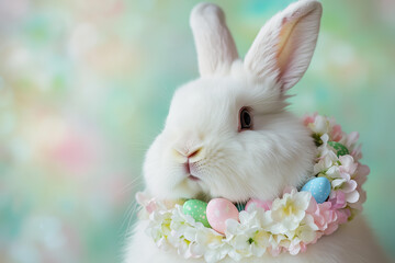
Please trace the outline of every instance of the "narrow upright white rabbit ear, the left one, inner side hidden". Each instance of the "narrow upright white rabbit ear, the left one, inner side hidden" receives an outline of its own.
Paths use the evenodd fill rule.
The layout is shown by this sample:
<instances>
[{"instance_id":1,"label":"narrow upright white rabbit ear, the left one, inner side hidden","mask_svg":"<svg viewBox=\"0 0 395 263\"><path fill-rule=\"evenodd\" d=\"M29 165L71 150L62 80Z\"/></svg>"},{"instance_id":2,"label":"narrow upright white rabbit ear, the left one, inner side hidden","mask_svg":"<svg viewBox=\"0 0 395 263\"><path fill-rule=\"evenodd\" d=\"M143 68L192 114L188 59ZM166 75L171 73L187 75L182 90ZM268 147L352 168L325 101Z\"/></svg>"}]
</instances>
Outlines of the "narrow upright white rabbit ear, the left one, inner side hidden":
<instances>
[{"instance_id":1,"label":"narrow upright white rabbit ear, the left one, inner side hidden","mask_svg":"<svg viewBox=\"0 0 395 263\"><path fill-rule=\"evenodd\" d=\"M200 75L226 75L238 55L222 9L212 3L200 3L193 8L190 23Z\"/></svg>"}]
</instances>

